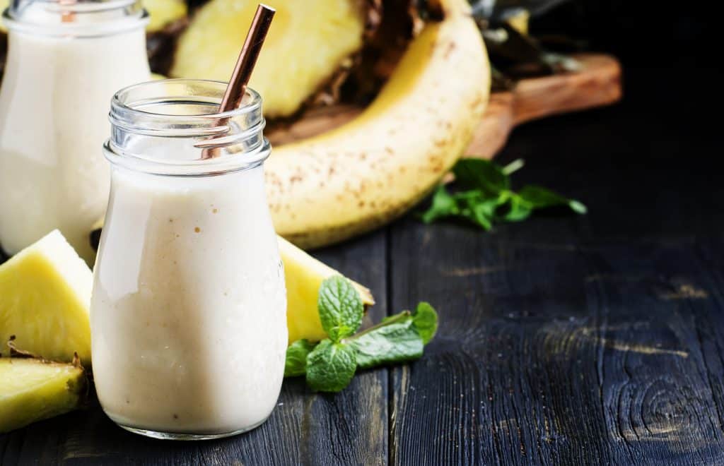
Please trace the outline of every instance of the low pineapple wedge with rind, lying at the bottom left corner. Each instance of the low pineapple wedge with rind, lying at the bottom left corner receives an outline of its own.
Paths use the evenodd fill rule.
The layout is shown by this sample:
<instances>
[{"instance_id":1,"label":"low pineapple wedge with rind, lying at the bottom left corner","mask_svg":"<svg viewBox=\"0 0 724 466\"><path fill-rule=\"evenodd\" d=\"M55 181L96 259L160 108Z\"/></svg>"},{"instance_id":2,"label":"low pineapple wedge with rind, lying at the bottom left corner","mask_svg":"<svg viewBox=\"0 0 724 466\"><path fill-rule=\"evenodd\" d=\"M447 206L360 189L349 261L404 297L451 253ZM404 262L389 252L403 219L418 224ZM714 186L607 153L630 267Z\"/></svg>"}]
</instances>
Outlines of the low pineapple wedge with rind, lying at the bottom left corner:
<instances>
[{"instance_id":1,"label":"low pineapple wedge with rind, lying at the bottom left corner","mask_svg":"<svg viewBox=\"0 0 724 466\"><path fill-rule=\"evenodd\" d=\"M83 394L80 366L0 358L0 433L74 410Z\"/></svg>"}]
</instances>

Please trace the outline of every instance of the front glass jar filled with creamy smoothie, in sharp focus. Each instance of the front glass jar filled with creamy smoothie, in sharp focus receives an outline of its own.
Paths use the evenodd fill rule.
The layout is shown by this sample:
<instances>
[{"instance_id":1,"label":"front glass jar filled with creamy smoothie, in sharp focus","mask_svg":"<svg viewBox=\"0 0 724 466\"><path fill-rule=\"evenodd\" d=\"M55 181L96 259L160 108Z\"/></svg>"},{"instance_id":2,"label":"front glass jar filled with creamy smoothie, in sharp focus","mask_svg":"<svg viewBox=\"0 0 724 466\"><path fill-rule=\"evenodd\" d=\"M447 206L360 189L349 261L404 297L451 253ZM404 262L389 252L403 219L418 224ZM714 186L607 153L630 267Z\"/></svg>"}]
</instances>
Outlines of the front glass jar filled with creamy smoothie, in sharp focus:
<instances>
[{"instance_id":1,"label":"front glass jar filled with creamy smoothie, in sharp focus","mask_svg":"<svg viewBox=\"0 0 724 466\"><path fill-rule=\"evenodd\" d=\"M258 426L284 373L286 290L264 191L261 98L147 82L111 103L111 196L91 302L93 376L127 430L208 439ZM216 157L202 157L214 146Z\"/></svg>"}]
</instances>

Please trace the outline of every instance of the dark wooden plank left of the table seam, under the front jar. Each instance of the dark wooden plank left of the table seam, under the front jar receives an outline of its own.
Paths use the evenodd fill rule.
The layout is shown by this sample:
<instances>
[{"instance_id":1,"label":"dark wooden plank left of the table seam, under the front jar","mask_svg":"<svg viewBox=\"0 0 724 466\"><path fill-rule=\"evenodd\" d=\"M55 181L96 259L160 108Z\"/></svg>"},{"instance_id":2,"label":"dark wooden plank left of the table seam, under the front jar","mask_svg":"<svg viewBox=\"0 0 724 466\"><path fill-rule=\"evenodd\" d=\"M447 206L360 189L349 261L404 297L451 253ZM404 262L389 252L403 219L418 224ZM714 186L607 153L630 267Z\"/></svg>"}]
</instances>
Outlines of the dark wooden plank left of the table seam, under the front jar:
<instances>
[{"instance_id":1,"label":"dark wooden plank left of the table seam, under the front jar","mask_svg":"<svg viewBox=\"0 0 724 466\"><path fill-rule=\"evenodd\" d=\"M366 324L386 314L384 231L316 253L369 285L378 304ZM387 371L355 377L340 394L313 394L287 379L271 418L231 439L169 442L114 426L97 405L0 435L0 464L366 464L387 463ZM383 433L381 435L381 433Z\"/></svg>"}]
</instances>

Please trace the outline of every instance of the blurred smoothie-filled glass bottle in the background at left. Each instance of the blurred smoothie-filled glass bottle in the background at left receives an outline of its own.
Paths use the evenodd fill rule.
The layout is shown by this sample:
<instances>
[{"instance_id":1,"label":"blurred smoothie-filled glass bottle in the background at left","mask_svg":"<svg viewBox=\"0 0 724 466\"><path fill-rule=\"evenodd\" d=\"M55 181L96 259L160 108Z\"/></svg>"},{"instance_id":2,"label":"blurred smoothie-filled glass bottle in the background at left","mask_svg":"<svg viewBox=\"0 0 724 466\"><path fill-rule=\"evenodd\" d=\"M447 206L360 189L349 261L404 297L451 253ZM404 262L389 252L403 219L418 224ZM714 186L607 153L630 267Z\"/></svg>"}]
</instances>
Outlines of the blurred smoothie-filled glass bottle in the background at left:
<instances>
[{"instance_id":1,"label":"blurred smoothie-filled glass bottle in the background at left","mask_svg":"<svg viewBox=\"0 0 724 466\"><path fill-rule=\"evenodd\" d=\"M0 246L14 254L59 228L92 264L103 217L108 102L148 81L136 0L13 0L0 89Z\"/></svg>"}]
</instances>

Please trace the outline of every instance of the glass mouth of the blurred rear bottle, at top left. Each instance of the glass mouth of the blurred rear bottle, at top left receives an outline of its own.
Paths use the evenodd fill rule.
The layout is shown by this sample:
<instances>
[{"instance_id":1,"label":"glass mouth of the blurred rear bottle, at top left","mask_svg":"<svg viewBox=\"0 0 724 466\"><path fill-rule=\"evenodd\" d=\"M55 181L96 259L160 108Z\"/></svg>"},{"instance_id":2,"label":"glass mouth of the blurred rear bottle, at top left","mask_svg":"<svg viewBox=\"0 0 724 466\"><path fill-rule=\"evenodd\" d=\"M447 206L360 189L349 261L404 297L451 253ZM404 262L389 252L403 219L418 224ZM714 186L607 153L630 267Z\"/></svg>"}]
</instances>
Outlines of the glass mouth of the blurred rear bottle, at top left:
<instances>
[{"instance_id":1,"label":"glass mouth of the blurred rear bottle, at top left","mask_svg":"<svg viewBox=\"0 0 724 466\"><path fill-rule=\"evenodd\" d=\"M141 0L12 0L2 14L9 30L51 37L99 37L145 27Z\"/></svg>"}]
</instances>

